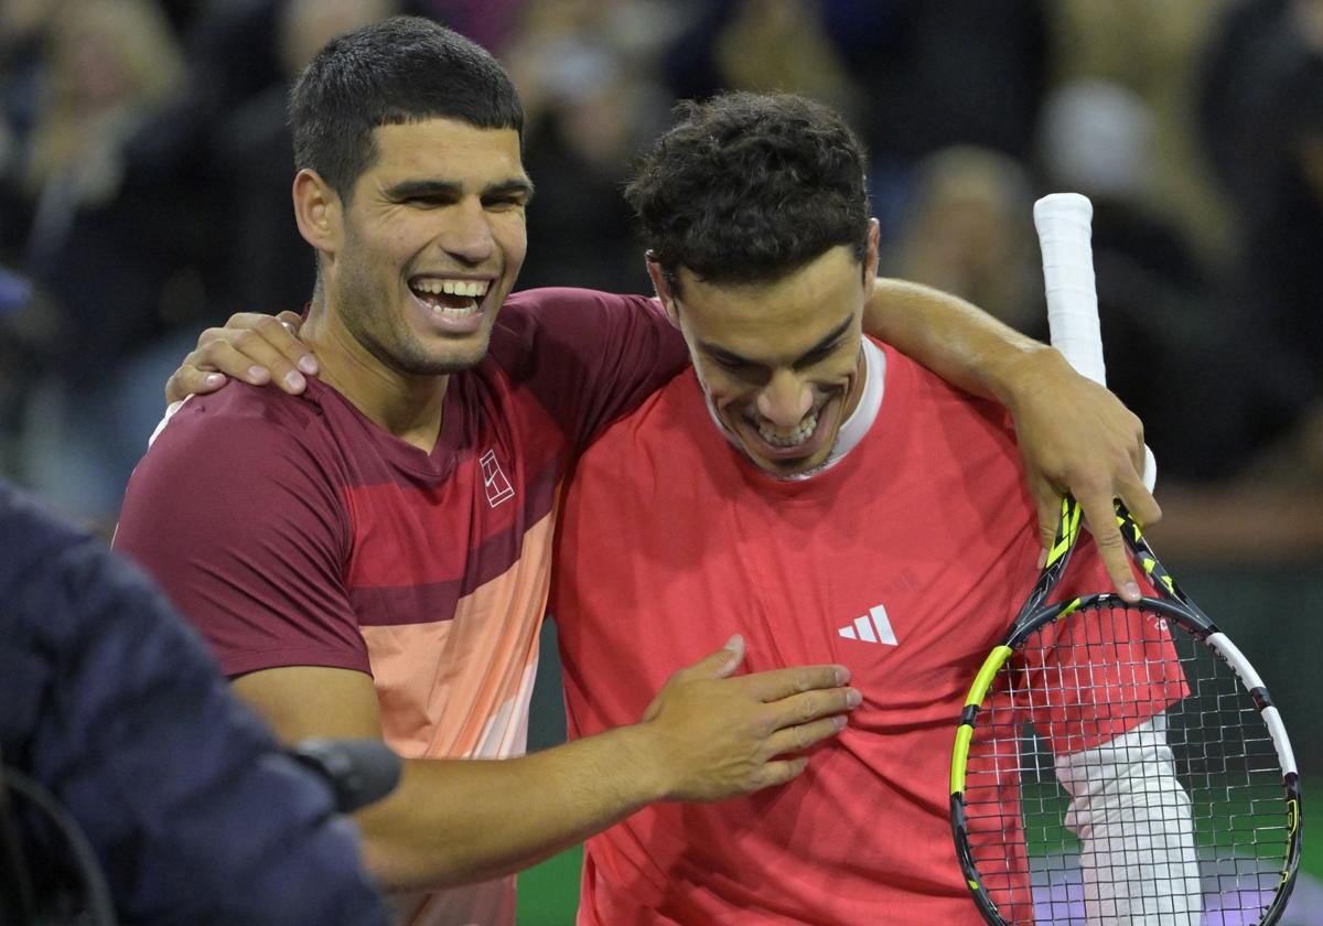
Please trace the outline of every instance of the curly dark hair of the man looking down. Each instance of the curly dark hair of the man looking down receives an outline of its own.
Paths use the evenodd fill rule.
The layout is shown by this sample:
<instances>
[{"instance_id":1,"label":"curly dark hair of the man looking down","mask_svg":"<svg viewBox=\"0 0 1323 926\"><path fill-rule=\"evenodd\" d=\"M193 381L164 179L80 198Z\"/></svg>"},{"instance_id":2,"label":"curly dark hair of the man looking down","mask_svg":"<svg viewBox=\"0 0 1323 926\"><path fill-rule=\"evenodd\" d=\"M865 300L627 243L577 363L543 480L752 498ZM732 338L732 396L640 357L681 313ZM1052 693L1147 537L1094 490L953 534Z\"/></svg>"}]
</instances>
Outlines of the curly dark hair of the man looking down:
<instances>
[{"instance_id":1,"label":"curly dark hair of the man looking down","mask_svg":"<svg viewBox=\"0 0 1323 926\"><path fill-rule=\"evenodd\" d=\"M672 290L775 280L839 245L868 254L864 147L840 114L790 94L681 102L624 197Z\"/></svg>"}]
</instances>

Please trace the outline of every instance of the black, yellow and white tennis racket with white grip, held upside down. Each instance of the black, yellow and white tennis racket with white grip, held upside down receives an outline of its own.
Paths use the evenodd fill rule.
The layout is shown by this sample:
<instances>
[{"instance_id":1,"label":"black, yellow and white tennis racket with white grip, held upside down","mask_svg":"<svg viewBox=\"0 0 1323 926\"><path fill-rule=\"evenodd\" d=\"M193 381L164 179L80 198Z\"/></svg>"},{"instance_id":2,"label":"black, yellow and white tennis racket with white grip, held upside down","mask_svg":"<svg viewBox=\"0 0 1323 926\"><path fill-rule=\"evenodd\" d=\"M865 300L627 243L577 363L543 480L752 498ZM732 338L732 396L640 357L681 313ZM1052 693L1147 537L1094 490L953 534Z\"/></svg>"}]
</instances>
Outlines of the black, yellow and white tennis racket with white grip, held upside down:
<instances>
[{"instance_id":1,"label":"black, yellow and white tennis racket with white grip, held upside down","mask_svg":"<svg viewBox=\"0 0 1323 926\"><path fill-rule=\"evenodd\" d=\"M1048 200L1036 218L1058 197ZM1065 202L1076 232L1048 228L1073 235L1066 261L1091 265L1081 201ZM1049 250L1062 254L1045 241L1045 274ZM1091 266L1070 273L1091 296ZM1093 345L1095 306L1082 339ZM1101 381L1101 347L1085 349ZM1286 729L1253 665L1121 504L1117 520L1156 594L1053 601L1081 528L1065 497L1043 573L970 688L951 761L970 892L990 923L1275 923L1301 855Z\"/></svg>"}]
</instances>

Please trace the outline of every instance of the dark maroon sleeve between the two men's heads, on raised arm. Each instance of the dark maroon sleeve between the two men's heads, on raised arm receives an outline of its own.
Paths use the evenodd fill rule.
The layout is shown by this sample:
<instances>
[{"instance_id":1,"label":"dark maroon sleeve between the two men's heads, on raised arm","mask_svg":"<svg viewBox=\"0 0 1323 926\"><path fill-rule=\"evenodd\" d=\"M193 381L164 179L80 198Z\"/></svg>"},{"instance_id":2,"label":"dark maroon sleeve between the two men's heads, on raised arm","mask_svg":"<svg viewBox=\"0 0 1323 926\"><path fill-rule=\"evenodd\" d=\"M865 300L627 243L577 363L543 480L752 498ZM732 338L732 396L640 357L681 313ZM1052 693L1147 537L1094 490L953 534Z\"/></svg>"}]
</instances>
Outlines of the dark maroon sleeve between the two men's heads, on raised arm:
<instances>
[{"instance_id":1,"label":"dark maroon sleeve between the two men's heads, on raised arm","mask_svg":"<svg viewBox=\"0 0 1323 926\"><path fill-rule=\"evenodd\" d=\"M501 311L519 352L503 365L538 396L574 452L689 364L680 332L647 296L527 290Z\"/></svg>"}]
</instances>

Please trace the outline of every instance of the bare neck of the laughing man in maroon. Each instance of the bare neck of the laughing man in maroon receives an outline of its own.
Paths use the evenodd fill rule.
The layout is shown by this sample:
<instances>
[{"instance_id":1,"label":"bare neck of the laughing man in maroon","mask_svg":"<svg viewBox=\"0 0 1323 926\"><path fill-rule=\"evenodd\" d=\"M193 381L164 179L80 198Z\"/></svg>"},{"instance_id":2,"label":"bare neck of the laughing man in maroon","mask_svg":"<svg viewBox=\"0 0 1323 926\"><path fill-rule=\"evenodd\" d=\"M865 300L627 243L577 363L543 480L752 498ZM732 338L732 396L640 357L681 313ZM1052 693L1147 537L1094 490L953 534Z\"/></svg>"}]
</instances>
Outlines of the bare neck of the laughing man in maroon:
<instances>
[{"instance_id":1,"label":"bare neck of the laughing man in maroon","mask_svg":"<svg viewBox=\"0 0 1323 926\"><path fill-rule=\"evenodd\" d=\"M382 362L314 298L299 337L318 357L319 378L384 431L431 452L441 434L448 376L401 373Z\"/></svg>"}]
</instances>

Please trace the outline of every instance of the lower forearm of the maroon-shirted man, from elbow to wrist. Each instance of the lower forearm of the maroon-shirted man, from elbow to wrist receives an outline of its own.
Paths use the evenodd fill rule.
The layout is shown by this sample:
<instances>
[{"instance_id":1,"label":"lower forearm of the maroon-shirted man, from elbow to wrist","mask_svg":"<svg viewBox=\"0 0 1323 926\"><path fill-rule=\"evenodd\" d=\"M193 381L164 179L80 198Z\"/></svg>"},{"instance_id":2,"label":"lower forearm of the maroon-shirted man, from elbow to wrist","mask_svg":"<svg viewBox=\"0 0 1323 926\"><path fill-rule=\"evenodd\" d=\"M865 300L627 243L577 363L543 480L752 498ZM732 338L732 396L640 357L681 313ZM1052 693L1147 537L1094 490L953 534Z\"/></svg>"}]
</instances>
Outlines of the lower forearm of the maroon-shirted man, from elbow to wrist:
<instances>
[{"instance_id":1,"label":"lower forearm of the maroon-shirted man, from elbow to wrist","mask_svg":"<svg viewBox=\"0 0 1323 926\"><path fill-rule=\"evenodd\" d=\"M356 815L388 890L520 870L665 795L639 726L517 759L410 759L400 787Z\"/></svg>"}]
</instances>

